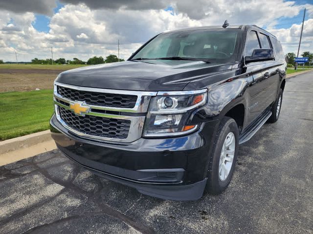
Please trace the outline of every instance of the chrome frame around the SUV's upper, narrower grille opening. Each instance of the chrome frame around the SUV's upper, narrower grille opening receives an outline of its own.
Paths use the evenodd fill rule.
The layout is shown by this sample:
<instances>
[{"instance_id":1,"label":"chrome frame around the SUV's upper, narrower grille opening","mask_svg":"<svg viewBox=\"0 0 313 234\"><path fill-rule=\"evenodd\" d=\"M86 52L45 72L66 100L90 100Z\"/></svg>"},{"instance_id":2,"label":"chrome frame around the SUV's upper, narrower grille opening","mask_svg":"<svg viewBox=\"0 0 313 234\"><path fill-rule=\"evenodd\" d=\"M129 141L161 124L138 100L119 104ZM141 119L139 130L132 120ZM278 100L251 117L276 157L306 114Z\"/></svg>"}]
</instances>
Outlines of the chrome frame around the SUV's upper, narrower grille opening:
<instances>
[{"instance_id":1,"label":"chrome frame around the SUV's upper, narrower grille opening","mask_svg":"<svg viewBox=\"0 0 313 234\"><path fill-rule=\"evenodd\" d=\"M97 93L107 93L107 94L126 94L126 95L134 95L137 96L137 100L135 106L133 108L120 108L120 107L111 107L111 106L97 106L97 105L90 105L93 109L98 110L107 110L107 111L118 111L118 112L132 112L132 113L145 113L148 110L150 98L152 96L156 96L157 92L150 92L150 91L130 91L130 90L116 90L116 89L100 89L100 88L89 88L83 86L74 86L69 84L60 83L54 81L54 97L59 98L62 101L69 103L69 101L76 101L70 100L67 98L63 98L57 92L57 86L62 86L65 88L70 88L74 90L80 91L87 91L87 92L97 92Z\"/></svg>"}]
</instances>

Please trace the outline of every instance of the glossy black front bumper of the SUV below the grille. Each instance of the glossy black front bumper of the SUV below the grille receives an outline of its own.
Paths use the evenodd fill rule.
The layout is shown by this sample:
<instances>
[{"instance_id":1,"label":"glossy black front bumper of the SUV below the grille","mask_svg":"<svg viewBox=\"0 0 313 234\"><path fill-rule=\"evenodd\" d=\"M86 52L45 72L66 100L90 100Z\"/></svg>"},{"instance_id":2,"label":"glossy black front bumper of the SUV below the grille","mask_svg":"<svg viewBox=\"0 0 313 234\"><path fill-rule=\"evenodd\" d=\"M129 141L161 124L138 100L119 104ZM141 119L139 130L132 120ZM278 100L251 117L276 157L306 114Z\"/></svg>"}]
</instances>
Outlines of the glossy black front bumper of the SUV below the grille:
<instances>
[{"instance_id":1,"label":"glossy black front bumper of the SUV below the grille","mask_svg":"<svg viewBox=\"0 0 313 234\"><path fill-rule=\"evenodd\" d=\"M216 125L217 121L212 121L184 137L140 138L132 143L112 144L75 136L55 116L50 120L52 138L70 159L142 194L171 200L202 196Z\"/></svg>"}]
</instances>

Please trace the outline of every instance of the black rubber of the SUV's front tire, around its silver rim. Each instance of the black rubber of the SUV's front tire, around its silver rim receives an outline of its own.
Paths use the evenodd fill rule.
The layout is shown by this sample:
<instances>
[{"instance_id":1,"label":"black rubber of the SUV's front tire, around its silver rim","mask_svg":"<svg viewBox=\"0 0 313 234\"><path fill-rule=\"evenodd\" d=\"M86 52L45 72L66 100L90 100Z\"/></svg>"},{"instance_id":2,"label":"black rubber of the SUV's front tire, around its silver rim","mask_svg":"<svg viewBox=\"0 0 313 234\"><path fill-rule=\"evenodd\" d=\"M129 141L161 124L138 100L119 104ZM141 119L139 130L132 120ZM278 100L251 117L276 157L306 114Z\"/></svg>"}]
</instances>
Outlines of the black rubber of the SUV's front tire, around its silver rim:
<instances>
[{"instance_id":1,"label":"black rubber of the SUV's front tire, around its silver rim","mask_svg":"<svg viewBox=\"0 0 313 234\"><path fill-rule=\"evenodd\" d=\"M222 153L222 147L224 144L224 140L227 135L232 132L235 137L235 151L234 158L231 169L229 171L228 176L223 181L219 176L219 163ZM239 132L238 126L233 118L224 117L221 120L219 129L214 139L213 149L211 152L210 162L209 162L209 170L208 170L208 180L205 187L205 192L210 194L221 194L227 187L233 176L237 154L238 154L238 145L239 145Z\"/></svg>"}]
</instances>

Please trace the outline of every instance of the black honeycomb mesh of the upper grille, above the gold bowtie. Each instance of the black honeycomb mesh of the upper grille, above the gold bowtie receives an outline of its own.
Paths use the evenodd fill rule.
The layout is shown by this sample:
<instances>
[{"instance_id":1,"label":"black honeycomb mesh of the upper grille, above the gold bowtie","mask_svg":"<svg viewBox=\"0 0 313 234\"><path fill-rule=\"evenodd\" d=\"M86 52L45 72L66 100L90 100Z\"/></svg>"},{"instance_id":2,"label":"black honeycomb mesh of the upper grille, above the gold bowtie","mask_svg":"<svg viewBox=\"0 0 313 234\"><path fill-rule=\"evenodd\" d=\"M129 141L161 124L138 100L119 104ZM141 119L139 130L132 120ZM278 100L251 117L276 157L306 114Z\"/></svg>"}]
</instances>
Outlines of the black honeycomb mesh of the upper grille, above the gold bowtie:
<instances>
[{"instance_id":1,"label":"black honeycomb mesh of the upper grille, above the gold bowtie","mask_svg":"<svg viewBox=\"0 0 313 234\"><path fill-rule=\"evenodd\" d=\"M57 93L63 98L85 101L87 104L95 106L134 108L137 101L136 95L89 92L59 85L57 86Z\"/></svg>"}]
</instances>

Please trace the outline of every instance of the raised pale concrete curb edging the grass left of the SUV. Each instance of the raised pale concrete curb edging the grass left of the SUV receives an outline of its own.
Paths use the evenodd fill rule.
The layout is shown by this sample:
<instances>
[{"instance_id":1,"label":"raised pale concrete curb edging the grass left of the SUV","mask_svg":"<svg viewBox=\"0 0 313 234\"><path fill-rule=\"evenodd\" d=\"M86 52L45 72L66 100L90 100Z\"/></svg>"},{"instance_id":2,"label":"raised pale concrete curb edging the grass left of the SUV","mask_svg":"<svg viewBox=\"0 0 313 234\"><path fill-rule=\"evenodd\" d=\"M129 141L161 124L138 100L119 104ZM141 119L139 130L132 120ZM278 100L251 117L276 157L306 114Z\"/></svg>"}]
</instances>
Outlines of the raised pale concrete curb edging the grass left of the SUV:
<instances>
[{"instance_id":1,"label":"raised pale concrete curb edging the grass left of the SUV","mask_svg":"<svg viewBox=\"0 0 313 234\"><path fill-rule=\"evenodd\" d=\"M0 155L51 140L50 130L0 141Z\"/></svg>"}]
</instances>

